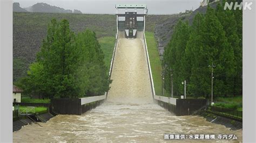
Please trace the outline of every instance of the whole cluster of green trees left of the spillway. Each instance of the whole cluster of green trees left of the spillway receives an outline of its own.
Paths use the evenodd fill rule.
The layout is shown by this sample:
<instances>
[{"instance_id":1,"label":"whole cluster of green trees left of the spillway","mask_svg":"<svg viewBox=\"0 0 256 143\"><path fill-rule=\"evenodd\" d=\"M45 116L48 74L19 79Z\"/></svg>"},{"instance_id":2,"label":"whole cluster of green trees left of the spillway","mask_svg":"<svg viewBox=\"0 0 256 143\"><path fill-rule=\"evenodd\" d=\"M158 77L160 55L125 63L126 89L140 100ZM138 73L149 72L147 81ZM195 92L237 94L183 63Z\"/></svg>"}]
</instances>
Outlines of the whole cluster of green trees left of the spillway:
<instances>
[{"instance_id":1,"label":"whole cluster of green trees left of the spillway","mask_svg":"<svg viewBox=\"0 0 256 143\"><path fill-rule=\"evenodd\" d=\"M68 20L52 19L36 62L17 85L25 94L43 98L102 95L109 90L109 76L95 32L75 35Z\"/></svg>"}]
</instances>

